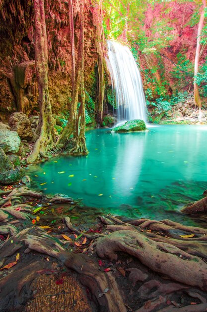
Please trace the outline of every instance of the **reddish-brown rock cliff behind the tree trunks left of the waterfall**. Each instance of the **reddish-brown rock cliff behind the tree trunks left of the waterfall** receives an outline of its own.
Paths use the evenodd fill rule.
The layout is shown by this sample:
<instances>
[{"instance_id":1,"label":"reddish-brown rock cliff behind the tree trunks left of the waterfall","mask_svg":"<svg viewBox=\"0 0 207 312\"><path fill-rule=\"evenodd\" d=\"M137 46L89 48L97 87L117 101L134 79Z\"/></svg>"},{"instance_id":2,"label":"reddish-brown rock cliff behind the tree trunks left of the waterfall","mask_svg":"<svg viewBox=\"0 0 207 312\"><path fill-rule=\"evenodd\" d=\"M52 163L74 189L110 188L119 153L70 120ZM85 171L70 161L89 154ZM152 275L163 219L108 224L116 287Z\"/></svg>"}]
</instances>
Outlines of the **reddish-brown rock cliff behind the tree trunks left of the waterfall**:
<instances>
[{"instance_id":1,"label":"reddish-brown rock cliff behind the tree trunks left of the waterfall","mask_svg":"<svg viewBox=\"0 0 207 312\"><path fill-rule=\"evenodd\" d=\"M79 33L78 1L73 0L75 43ZM71 90L71 57L67 1L45 0L49 53L49 91L53 113L68 111ZM85 2L85 83L92 90L97 60L98 8ZM0 0L0 120L11 113L30 114L38 109L34 64L33 1Z\"/></svg>"}]
</instances>

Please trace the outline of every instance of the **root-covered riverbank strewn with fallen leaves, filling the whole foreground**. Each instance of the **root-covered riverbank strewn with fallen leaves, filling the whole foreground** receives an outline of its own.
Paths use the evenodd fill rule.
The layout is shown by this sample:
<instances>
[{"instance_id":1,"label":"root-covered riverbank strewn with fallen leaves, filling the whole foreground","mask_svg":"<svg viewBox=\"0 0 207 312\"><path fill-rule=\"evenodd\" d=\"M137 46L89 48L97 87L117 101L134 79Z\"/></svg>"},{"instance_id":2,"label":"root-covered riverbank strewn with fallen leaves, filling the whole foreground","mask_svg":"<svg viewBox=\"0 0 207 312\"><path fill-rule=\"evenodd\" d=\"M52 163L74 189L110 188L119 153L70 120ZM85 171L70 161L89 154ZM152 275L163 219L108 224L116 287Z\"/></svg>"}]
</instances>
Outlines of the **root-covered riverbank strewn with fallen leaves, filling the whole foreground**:
<instances>
[{"instance_id":1,"label":"root-covered riverbank strewn with fallen leaves, filling the whole foreground","mask_svg":"<svg viewBox=\"0 0 207 312\"><path fill-rule=\"evenodd\" d=\"M113 215L75 226L69 212L44 218L63 203L68 211L78 205L22 186L1 189L0 311L206 311L207 229Z\"/></svg>"}]
</instances>

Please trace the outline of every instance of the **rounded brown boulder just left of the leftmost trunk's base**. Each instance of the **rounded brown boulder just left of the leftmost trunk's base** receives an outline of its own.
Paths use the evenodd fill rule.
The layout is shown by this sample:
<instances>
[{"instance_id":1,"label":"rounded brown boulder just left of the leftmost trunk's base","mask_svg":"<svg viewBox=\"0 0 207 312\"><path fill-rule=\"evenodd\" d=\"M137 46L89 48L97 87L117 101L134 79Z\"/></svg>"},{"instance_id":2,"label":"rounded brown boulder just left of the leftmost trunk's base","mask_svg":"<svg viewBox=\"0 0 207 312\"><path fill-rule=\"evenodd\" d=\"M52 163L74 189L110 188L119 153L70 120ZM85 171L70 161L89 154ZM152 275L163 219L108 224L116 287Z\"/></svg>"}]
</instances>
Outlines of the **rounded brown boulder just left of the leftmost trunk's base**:
<instances>
[{"instance_id":1,"label":"rounded brown boulder just left of the leftmost trunk's base","mask_svg":"<svg viewBox=\"0 0 207 312\"><path fill-rule=\"evenodd\" d=\"M8 124L10 129L16 131L21 139L30 141L33 138L30 120L22 112L13 113Z\"/></svg>"}]
</instances>

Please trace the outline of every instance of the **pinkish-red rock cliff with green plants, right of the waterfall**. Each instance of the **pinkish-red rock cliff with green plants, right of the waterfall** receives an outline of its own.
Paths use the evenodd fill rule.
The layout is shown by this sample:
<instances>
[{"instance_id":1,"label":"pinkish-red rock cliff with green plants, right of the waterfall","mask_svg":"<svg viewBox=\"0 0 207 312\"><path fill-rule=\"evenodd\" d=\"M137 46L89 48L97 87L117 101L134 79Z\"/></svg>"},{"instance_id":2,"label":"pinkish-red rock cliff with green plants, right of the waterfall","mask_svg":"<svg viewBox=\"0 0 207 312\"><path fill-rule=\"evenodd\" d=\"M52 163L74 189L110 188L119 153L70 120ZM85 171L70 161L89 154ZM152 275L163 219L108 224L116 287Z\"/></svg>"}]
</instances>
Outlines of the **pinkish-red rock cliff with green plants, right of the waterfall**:
<instances>
[{"instance_id":1,"label":"pinkish-red rock cliff with green plants, right of the waterfall","mask_svg":"<svg viewBox=\"0 0 207 312\"><path fill-rule=\"evenodd\" d=\"M140 55L140 62L142 69L149 68L153 72L153 78L157 84L161 87L163 82L167 82L169 92L180 90L189 91L192 85L192 77L194 70L194 59L196 52L196 41L198 32L198 23L193 23L193 14L196 11L196 4L194 2L160 2L153 6L148 4L145 12L143 29L148 37L148 41L156 40L159 37L159 31L152 31L156 29L155 25L159 24L159 21L166 20L164 27L172 28L169 31L169 35L172 39L169 44L162 48L157 54L148 53ZM198 13L199 16L199 13ZM166 31L167 33L167 31ZM167 36L167 34L166 34ZM165 38L163 38L165 40ZM207 57L207 51L204 50L200 56L200 64L202 64ZM186 70L186 62L188 70ZM176 64L178 65L176 67ZM177 76L175 72L177 71ZM188 75L190 72L190 75ZM174 72L174 73L173 73ZM150 86L154 90L152 98L156 98L157 91L156 84L153 86L153 81L150 83L150 79L142 75L145 89ZM167 86L163 84L163 87L167 89Z\"/></svg>"}]
</instances>

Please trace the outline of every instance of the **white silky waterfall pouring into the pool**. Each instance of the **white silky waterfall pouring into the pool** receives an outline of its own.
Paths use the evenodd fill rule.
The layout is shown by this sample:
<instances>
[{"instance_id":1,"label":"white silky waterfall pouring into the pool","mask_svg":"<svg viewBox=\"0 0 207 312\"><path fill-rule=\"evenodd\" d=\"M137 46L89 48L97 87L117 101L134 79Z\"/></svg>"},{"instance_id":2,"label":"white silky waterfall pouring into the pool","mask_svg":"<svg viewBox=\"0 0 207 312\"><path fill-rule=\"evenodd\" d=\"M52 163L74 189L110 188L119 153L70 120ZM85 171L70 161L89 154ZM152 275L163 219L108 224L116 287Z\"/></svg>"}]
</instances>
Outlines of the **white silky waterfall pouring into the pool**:
<instances>
[{"instance_id":1,"label":"white silky waterfall pouring into the pool","mask_svg":"<svg viewBox=\"0 0 207 312\"><path fill-rule=\"evenodd\" d=\"M127 46L107 41L108 67L116 93L117 121L142 119L146 122L146 103L141 76Z\"/></svg>"}]
</instances>

